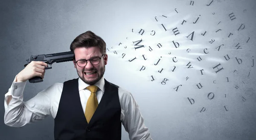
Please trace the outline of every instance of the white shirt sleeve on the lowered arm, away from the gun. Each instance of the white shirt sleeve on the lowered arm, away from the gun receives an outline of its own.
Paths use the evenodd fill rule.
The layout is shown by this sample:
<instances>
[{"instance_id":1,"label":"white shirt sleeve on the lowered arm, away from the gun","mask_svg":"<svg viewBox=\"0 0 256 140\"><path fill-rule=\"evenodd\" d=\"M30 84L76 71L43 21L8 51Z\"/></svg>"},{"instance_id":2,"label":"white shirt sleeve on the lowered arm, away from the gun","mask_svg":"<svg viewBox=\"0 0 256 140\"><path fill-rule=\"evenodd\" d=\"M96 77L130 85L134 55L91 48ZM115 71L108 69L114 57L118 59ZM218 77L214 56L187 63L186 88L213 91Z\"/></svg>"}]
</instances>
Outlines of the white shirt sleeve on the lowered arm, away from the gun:
<instances>
[{"instance_id":1,"label":"white shirt sleeve on the lowered arm, away from the gun","mask_svg":"<svg viewBox=\"0 0 256 140\"><path fill-rule=\"evenodd\" d=\"M144 124L139 106L129 92L125 98L125 110L122 124L125 131L128 132L130 140L153 140L149 129Z\"/></svg>"}]
</instances>

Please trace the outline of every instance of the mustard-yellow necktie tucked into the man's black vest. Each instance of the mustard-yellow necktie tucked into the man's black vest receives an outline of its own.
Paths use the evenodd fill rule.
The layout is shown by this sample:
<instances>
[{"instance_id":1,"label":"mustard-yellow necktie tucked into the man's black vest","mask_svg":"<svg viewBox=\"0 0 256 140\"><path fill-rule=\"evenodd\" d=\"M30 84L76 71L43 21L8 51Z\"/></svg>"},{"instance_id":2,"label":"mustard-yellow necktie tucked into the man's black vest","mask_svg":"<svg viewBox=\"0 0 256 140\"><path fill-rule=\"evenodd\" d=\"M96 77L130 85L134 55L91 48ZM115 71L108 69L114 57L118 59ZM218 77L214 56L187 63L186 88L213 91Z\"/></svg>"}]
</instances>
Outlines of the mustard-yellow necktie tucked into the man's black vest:
<instances>
[{"instance_id":1,"label":"mustard-yellow necktie tucked into the man's black vest","mask_svg":"<svg viewBox=\"0 0 256 140\"><path fill-rule=\"evenodd\" d=\"M85 108L85 118L87 120L87 123L90 122L90 119L93 117L93 114L98 107L98 100L96 98L96 91L98 89L95 85L90 85L86 87L87 90L90 90L91 95L87 100L86 108Z\"/></svg>"}]
</instances>

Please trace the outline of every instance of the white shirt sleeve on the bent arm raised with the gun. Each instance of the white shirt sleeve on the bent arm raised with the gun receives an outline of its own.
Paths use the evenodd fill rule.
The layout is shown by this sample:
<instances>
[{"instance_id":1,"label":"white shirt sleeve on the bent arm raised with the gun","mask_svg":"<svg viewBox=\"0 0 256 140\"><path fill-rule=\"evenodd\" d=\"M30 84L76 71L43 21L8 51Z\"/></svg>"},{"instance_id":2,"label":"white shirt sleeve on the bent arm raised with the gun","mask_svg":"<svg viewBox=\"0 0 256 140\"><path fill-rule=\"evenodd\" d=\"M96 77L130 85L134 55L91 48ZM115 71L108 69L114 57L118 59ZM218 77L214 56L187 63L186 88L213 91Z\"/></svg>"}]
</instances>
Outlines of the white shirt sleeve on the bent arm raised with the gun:
<instances>
[{"instance_id":1,"label":"white shirt sleeve on the bent arm raised with the gun","mask_svg":"<svg viewBox=\"0 0 256 140\"><path fill-rule=\"evenodd\" d=\"M50 114L50 99L44 91L39 92L34 98L27 102L23 101L23 91L26 81L15 82L5 94L4 123L7 126L21 127L27 123L42 120ZM8 95L12 95L12 100L7 104Z\"/></svg>"}]
</instances>

